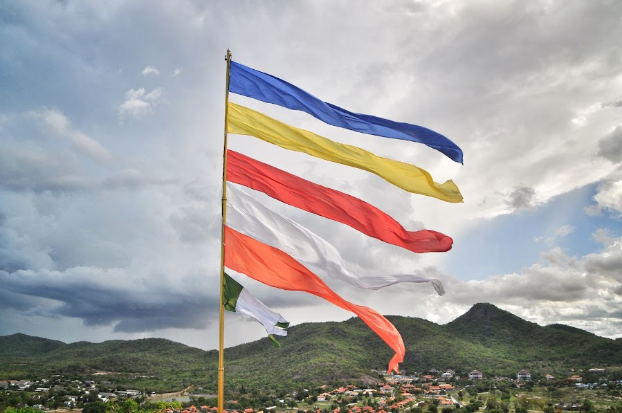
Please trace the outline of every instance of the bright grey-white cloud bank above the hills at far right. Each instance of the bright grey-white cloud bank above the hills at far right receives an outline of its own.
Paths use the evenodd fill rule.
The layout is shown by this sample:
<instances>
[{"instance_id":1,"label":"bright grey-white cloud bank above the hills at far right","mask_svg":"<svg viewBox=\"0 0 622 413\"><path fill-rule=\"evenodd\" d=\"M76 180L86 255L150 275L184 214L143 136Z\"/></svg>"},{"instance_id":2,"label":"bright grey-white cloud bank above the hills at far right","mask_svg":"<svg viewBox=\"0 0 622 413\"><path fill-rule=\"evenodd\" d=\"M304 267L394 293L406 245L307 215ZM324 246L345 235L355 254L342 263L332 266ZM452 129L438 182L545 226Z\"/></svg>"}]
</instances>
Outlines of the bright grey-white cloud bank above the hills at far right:
<instances>
[{"instance_id":1,"label":"bright grey-white cloud bank above the hills at far right","mask_svg":"<svg viewBox=\"0 0 622 413\"><path fill-rule=\"evenodd\" d=\"M620 336L616 325L622 322L622 239L601 253L571 257L554 248L543 258L545 263L521 273L455 282L453 288L446 282L449 305L491 302L538 324L561 322Z\"/></svg>"}]
</instances>

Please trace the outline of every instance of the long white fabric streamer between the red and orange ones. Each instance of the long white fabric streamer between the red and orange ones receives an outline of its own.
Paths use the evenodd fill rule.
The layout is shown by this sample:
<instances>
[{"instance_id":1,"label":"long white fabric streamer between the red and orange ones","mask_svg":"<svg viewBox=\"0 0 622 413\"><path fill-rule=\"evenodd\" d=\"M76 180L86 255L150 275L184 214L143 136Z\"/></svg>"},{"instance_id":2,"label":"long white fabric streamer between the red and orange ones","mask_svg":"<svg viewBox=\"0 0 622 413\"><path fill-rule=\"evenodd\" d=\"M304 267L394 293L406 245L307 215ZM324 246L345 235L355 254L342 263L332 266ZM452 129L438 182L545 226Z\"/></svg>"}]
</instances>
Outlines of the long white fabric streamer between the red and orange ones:
<instances>
[{"instance_id":1,"label":"long white fabric streamer between the red and orange ones","mask_svg":"<svg viewBox=\"0 0 622 413\"><path fill-rule=\"evenodd\" d=\"M268 246L282 250L304 266L313 266L329 277L359 288L377 290L399 282L429 282L439 295L445 290L439 279L410 274L363 275L347 268L338 250L291 219L273 212L235 184L227 185L226 225Z\"/></svg>"}]
</instances>

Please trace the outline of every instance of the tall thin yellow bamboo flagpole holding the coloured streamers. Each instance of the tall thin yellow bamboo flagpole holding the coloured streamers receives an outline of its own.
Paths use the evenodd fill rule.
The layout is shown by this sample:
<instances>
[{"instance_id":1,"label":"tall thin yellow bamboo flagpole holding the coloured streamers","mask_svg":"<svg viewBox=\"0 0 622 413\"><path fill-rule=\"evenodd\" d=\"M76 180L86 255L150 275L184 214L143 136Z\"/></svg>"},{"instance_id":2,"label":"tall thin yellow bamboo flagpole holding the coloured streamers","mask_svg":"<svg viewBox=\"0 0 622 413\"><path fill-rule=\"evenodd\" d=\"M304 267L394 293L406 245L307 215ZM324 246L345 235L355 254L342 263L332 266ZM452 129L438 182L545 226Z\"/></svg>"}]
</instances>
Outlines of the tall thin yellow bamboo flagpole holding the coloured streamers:
<instances>
[{"instance_id":1,"label":"tall thin yellow bamboo flagpole holding the coloured streamers","mask_svg":"<svg viewBox=\"0 0 622 413\"><path fill-rule=\"evenodd\" d=\"M223 145L223 197L222 197L222 225L220 245L220 323L219 323L219 347L218 347L218 413L223 412L224 386L225 386L225 306L223 303L223 284L225 281L225 224L227 222L227 115L229 107L229 73L231 70L231 51L227 49L225 57L227 62L227 80L225 91L225 138Z\"/></svg>"}]
</instances>

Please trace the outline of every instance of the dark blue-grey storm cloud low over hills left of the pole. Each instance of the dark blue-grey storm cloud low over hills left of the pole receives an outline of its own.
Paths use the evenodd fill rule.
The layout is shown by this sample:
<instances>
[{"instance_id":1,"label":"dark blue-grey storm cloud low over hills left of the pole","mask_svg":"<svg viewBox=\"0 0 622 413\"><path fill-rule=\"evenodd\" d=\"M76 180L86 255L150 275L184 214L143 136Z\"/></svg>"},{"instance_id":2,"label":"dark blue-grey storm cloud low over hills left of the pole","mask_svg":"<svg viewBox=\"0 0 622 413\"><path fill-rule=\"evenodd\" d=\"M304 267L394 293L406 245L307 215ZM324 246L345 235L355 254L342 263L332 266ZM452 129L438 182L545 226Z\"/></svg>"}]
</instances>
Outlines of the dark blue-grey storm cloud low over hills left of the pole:
<instances>
[{"instance_id":1,"label":"dark blue-grey storm cloud low over hills left of the pole","mask_svg":"<svg viewBox=\"0 0 622 413\"><path fill-rule=\"evenodd\" d=\"M169 327L204 329L217 312L213 288L195 285L175 291L173 285L134 286L125 273L99 268L72 268L64 273L0 271L7 300L4 306L48 316L79 318L89 326L114 325L115 331L153 331ZM42 305L42 299L47 304Z\"/></svg>"}]
</instances>

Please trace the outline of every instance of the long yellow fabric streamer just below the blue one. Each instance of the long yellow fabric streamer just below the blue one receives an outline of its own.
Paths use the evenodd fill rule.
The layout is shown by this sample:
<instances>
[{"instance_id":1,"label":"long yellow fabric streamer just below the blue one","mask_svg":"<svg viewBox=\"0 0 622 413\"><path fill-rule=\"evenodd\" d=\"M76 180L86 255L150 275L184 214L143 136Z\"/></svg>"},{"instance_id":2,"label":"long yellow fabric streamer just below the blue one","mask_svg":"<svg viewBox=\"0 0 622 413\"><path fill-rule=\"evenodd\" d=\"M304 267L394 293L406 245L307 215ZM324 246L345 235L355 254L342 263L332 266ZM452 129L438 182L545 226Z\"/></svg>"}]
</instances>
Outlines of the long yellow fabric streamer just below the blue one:
<instances>
[{"instance_id":1,"label":"long yellow fabric streamer just below the blue one","mask_svg":"<svg viewBox=\"0 0 622 413\"><path fill-rule=\"evenodd\" d=\"M228 104L227 120L230 134L255 136L284 149L363 169L414 194L432 196L441 201L462 202L460 190L453 181L436 183L426 170L409 163L382 158L365 149L334 142L232 102Z\"/></svg>"}]
</instances>

